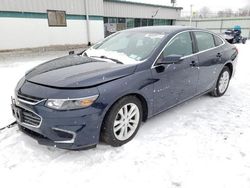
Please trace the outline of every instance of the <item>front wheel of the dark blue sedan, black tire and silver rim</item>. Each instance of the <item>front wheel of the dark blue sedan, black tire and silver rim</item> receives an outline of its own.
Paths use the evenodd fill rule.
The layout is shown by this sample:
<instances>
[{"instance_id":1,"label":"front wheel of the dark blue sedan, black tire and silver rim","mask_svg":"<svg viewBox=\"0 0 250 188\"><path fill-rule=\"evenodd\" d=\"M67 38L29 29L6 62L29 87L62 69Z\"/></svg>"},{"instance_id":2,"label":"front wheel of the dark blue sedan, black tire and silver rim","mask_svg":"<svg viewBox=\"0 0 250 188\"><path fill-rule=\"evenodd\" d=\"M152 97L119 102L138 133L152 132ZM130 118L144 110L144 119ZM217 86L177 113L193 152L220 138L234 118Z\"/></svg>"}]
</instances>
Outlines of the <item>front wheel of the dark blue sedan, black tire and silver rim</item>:
<instances>
[{"instance_id":1,"label":"front wheel of the dark blue sedan, black tire and silver rim","mask_svg":"<svg viewBox=\"0 0 250 188\"><path fill-rule=\"evenodd\" d=\"M128 113L131 110L135 115L131 118L125 118L126 109ZM135 96L124 97L107 112L101 129L101 140L113 147L122 146L135 137L141 120L142 105L140 100Z\"/></svg>"}]
</instances>

